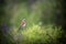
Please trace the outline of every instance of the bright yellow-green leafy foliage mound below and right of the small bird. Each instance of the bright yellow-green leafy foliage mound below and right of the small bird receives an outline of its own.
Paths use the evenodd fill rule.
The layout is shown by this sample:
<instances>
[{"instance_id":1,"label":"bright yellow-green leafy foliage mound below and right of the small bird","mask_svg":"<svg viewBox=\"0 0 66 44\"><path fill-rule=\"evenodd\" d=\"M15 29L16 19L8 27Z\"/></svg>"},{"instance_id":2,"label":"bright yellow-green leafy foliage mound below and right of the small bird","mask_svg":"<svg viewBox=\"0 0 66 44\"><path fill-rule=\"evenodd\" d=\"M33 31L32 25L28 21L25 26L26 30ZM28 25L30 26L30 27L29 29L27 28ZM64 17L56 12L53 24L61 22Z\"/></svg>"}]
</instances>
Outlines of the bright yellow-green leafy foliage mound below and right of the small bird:
<instances>
[{"instance_id":1,"label":"bright yellow-green leafy foliage mound below and right of the small bird","mask_svg":"<svg viewBox=\"0 0 66 44\"><path fill-rule=\"evenodd\" d=\"M61 29L54 30L52 25L41 28L40 25L33 24L33 26L22 31L22 34L24 35L24 38L26 38L25 43L50 43L50 41L55 42L59 38L62 31Z\"/></svg>"}]
</instances>

